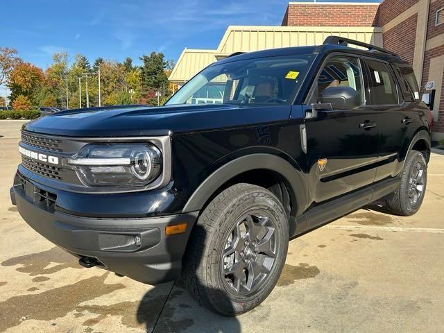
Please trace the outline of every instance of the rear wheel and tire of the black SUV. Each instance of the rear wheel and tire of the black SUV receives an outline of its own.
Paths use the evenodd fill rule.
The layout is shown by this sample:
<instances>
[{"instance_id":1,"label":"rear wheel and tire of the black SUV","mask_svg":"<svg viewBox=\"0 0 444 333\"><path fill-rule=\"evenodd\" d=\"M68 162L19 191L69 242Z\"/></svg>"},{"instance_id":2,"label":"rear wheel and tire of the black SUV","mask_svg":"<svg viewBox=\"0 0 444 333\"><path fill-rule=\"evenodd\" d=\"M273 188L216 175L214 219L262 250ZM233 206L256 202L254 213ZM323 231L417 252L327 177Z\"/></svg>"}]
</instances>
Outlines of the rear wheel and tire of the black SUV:
<instances>
[{"instance_id":1,"label":"rear wheel and tire of the black SUV","mask_svg":"<svg viewBox=\"0 0 444 333\"><path fill-rule=\"evenodd\" d=\"M418 212L425 196L427 185L427 162L420 151L410 151L401 173L400 186L386 200L386 206L400 216Z\"/></svg>"}]
</instances>

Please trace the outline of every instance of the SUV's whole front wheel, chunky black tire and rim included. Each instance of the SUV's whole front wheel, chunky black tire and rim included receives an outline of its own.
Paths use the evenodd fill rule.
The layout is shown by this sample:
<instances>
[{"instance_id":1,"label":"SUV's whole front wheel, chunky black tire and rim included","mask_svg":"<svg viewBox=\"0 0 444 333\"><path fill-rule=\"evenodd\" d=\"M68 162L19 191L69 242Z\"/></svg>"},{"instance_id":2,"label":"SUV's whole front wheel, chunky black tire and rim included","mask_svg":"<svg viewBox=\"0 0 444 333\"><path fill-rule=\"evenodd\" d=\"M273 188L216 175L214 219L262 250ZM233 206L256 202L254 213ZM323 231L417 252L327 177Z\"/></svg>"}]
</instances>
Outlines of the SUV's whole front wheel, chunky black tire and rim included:
<instances>
[{"instance_id":1,"label":"SUV's whole front wheel, chunky black tire and rim included","mask_svg":"<svg viewBox=\"0 0 444 333\"><path fill-rule=\"evenodd\" d=\"M194 226L182 271L185 287L217 314L243 314L275 287L288 244L287 214L278 198L256 185L233 185L207 205Z\"/></svg>"}]
</instances>

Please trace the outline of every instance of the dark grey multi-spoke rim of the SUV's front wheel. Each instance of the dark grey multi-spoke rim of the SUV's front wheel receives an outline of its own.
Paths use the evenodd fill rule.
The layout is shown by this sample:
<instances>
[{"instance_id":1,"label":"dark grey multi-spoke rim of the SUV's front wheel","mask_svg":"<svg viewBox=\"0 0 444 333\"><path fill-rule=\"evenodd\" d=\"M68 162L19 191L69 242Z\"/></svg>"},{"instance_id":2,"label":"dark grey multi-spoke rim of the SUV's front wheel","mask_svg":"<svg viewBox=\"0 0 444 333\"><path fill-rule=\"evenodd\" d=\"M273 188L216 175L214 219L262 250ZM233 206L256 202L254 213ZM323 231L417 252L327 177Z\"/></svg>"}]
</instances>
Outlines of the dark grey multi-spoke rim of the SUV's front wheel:
<instances>
[{"instance_id":1,"label":"dark grey multi-spoke rim of the SUV's front wheel","mask_svg":"<svg viewBox=\"0 0 444 333\"><path fill-rule=\"evenodd\" d=\"M270 275L280 246L275 222L262 212L245 214L225 239L221 273L237 295L253 293Z\"/></svg>"}]
</instances>

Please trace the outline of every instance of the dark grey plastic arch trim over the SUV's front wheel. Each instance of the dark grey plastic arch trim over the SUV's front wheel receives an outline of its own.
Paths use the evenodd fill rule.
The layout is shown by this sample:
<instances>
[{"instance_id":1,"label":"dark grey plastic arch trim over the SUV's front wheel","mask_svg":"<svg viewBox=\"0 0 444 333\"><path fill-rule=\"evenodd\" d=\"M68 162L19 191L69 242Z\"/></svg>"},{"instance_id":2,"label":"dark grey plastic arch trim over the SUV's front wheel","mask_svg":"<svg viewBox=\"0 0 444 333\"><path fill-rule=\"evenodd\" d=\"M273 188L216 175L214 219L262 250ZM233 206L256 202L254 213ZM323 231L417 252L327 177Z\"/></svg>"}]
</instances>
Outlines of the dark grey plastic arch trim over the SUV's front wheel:
<instances>
[{"instance_id":1,"label":"dark grey plastic arch trim over the SUV's front wheel","mask_svg":"<svg viewBox=\"0 0 444 333\"><path fill-rule=\"evenodd\" d=\"M277 155L255 153L238 157L224 164L210 174L191 194L182 212L202 210L216 194L237 182L237 179L253 172L269 173L278 177L284 183L291 201L291 215L297 216L307 203L307 187L302 176L302 170L296 164ZM253 182L255 185L260 185Z\"/></svg>"}]
</instances>

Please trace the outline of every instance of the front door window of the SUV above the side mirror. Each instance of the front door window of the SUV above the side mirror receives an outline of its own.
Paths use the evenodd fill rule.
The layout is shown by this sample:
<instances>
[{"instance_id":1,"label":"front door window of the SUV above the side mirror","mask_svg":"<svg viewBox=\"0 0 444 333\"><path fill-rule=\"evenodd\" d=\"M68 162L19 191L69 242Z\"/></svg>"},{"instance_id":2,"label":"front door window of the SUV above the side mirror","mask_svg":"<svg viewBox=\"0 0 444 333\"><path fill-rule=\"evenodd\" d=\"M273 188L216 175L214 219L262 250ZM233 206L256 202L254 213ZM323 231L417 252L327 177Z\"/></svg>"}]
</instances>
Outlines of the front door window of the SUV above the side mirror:
<instances>
[{"instance_id":1,"label":"front door window of the SUV above the side mirror","mask_svg":"<svg viewBox=\"0 0 444 333\"><path fill-rule=\"evenodd\" d=\"M361 105L364 104L362 71L359 60L343 56L330 58L316 80L310 103L322 103L322 93L330 87L350 87L355 89L360 96Z\"/></svg>"}]
</instances>

